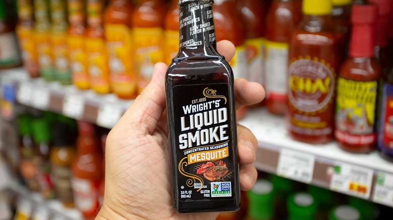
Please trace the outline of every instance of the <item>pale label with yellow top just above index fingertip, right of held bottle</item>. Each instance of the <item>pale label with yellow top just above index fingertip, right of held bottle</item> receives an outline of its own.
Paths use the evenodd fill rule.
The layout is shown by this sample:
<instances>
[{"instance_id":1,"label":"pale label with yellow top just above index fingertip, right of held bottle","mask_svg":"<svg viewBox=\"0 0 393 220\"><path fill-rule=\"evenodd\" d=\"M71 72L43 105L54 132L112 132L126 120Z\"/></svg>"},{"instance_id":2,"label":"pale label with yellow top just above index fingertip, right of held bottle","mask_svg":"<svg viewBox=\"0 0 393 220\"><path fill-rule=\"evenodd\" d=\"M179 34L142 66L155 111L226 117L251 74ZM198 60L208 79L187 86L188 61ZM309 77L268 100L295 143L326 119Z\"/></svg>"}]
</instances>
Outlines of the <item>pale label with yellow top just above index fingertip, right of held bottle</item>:
<instances>
[{"instance_id":1,"label":"pale label with yellow top just above index fingertip, right of held bottle","mask_svg":"<svg viewBox=\"0 0 393 220\"><path fill-rule=\"evenodd\" d=\"M233 76L236 78L248 78L247 72L247 55L246 46L241 45L236 47L235 56L233 56L229 65L232 67Z\"/></svg>"}]
</instances>

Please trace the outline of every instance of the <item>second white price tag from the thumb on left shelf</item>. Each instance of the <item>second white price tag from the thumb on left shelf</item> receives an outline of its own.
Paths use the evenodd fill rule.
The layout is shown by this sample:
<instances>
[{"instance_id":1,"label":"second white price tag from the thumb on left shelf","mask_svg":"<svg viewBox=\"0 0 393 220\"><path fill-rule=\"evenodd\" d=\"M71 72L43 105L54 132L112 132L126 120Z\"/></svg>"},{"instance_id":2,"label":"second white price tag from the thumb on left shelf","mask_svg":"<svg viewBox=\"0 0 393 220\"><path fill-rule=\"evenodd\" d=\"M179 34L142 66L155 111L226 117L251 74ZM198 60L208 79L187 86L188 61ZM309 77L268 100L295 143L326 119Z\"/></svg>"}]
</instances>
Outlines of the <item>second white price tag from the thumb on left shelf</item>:
<instances>
[{"instance_id":1,"label":"second white price tag from the thumb on left shelf","mask_svg":"<svg viewBox=\"0 0 393 220\"><path fill-rule=\"evenodd\" d=\"M73 119L82 119L85 111L85 99L80 95L64 96L63 115Z\"/></svg>"}]
</instances>

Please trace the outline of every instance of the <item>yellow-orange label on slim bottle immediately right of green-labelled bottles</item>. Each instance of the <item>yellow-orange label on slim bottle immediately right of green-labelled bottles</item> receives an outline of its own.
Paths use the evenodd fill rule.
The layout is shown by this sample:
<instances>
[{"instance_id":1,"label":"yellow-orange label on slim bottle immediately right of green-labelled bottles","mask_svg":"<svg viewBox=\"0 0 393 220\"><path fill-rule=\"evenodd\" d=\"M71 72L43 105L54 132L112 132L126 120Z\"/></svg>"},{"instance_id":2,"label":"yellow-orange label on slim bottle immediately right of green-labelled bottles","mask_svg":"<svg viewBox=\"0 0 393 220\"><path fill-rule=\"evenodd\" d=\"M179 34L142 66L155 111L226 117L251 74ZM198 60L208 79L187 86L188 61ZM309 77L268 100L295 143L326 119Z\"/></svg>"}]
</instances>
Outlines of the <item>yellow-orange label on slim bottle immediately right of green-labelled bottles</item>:
<instances>
[{"instance_id":1,"label":"yellow-orange label on slim bottle immediately right of green-labelled bottles","mask_svg":"<svg viewBox=\"0 0 393 220\"><path fill-rule=\"evenodd\" d=\"M78 88L87 89L90 86L89 73L87 71L87 57L84 49L85 38L83 36L68 36L68 53L72 71L73 84Z\"/></svg>"}]
</instances>

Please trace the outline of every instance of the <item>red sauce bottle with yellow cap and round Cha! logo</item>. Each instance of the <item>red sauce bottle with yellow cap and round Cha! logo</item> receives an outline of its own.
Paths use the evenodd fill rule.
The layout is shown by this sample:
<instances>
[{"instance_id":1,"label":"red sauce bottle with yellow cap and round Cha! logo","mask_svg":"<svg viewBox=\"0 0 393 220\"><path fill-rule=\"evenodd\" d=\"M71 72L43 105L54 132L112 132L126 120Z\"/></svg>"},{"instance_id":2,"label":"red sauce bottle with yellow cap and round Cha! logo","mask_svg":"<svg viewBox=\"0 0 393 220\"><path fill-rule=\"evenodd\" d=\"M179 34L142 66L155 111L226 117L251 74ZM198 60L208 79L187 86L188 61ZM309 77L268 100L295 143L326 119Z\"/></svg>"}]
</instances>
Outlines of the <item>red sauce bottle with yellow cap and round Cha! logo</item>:
<instances>
[{"instance_id":1,"label":"red sauce bottle with yellow cap and round Cha! logo","mask_svg":"<svg viewBox=\"0 0 393 220\"><path fill-rule=\"evenodd\" d=\"M334 134L338 41L330 0L304 0L302 11L289 43L288 130L295 140L322 144Z\"/></svg>"}]
</instances>

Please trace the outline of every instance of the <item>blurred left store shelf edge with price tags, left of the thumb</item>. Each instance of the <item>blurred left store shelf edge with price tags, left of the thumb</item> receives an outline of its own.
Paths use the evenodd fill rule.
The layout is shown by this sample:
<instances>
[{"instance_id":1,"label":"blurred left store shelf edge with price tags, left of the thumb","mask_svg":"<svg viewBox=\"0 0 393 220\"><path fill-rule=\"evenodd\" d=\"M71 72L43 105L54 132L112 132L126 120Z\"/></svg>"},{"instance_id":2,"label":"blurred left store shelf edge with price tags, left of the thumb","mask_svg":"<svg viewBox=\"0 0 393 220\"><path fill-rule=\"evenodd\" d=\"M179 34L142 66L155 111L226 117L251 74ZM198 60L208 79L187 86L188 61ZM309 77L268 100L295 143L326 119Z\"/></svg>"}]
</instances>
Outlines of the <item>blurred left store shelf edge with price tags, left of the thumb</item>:
<instances>
[{"instance_id":1,"label":"blurred left store shelf edge with price tags, left of the thumb","mask_svg":"<svg viewBox=\"0 0 393 220\"><path fill-rule=\"evenodd\" d=\"M24 68L0 73L2 86L8 88L7 96L14 96L17 102L105 128L112 128L133 102L119 99L114 94L99 95L92 90L79 90L74 85L30 78ZM10 95L13 90L15 94Z\"/></svg>"}]
</instances>

